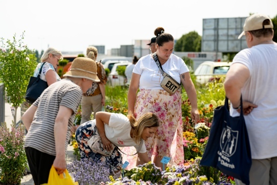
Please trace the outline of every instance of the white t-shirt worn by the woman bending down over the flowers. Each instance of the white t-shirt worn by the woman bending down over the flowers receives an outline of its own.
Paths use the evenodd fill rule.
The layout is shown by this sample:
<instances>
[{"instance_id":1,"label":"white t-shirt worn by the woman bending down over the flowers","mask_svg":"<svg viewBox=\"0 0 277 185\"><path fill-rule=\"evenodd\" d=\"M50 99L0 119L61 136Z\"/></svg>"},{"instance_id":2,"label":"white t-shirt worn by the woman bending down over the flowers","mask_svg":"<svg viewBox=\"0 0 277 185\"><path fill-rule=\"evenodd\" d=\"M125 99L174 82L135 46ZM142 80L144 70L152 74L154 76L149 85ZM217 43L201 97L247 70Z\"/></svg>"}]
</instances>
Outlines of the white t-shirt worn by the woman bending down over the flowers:
<instances>
[{"instance_id":1,"label":"white t-shirt worn by the woman bending down over the flowers","mask_svg":"<svg viewBox=\"0 0 277 185\"><path fill-rule=\"evenodd\" d=\"M145 142L143 142L141 151L138 151L138 149L140 149L140 144L137 145L131 138L131 124L129 119L125 115L121 113L112 113L110 116L109 125L104 124L104 128L106 137L114 145L118 147L134 146L137 152L146 152Z\"/></svg>"}]
</instances>

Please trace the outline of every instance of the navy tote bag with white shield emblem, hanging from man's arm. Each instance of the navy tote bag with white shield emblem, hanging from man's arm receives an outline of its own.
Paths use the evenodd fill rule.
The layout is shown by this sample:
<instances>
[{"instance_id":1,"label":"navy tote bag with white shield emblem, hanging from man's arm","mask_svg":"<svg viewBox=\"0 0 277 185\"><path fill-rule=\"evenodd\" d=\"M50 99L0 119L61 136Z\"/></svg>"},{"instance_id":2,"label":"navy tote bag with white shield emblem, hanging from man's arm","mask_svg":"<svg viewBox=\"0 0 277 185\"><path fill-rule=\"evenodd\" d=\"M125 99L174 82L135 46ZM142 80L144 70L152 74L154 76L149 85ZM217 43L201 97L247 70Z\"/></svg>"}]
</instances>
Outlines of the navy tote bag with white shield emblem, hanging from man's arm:
<instances>
[{"instance_id":1,"label":"navy tote bag with white shield emblem, hanging from man's arm","mask_svg":"<svg viewBox=\"0 0 277 185\"><path fill-rule=\"evenodd\" d=\"M242 98L240 101L242 107ZM215 109L209 140L200 165L215 167L249 185L251 164L243 110L241 108L240 116L230 116L228 98L225 97L225 105Z\"/></svg>"}]
</instances>

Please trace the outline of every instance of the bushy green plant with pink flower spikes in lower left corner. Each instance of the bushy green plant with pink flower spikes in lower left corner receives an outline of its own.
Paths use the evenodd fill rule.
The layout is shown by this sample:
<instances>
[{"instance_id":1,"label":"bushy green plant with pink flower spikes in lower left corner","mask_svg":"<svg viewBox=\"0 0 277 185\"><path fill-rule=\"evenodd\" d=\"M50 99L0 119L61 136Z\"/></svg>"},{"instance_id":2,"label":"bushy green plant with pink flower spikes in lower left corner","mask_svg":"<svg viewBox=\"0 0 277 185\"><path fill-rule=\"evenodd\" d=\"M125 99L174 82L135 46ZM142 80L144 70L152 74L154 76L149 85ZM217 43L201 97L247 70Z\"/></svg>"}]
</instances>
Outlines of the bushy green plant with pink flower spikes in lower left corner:
<instances>
[{"instance_id":1,"label":"bushy green plant with pink flower spikes in lower left corner","mask_svg":"<svg viewBox=\"0 0 277 185\"><path fill-rule=\"evenodd\" d=\"M0 127L0 184L20 184L27 167L24 150L24 126L17 130L7 128L6 122Z\"/></svg>"}]
</instances>

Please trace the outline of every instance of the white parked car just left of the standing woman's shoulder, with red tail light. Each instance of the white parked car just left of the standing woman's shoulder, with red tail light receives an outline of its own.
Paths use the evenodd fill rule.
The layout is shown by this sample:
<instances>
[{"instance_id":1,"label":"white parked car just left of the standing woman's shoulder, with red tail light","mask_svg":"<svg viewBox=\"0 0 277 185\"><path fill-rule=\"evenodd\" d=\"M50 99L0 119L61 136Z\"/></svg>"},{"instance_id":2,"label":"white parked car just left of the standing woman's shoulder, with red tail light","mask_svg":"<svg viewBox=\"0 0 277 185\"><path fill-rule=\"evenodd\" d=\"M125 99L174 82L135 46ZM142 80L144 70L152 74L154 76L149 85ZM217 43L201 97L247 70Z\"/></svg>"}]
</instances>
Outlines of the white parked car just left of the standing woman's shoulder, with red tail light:
<instances>
[{"instance_id":1,"label":"white parked car just left of the standing woman's shoulder, with red tail light","mask_svg":"<svg viewBox=\"0 0 277 185\"><path fill-rule=\"evenodd\" d=\"M127 67L129 64L132 64L130 62L128 63L116 63L113 65L113 68L111 70L111 73L108 76L108 84L111 86L124 86L125 85L125 76L118 75L117 69L119 66L125 66Z\"/></svg>"}]
</instances>

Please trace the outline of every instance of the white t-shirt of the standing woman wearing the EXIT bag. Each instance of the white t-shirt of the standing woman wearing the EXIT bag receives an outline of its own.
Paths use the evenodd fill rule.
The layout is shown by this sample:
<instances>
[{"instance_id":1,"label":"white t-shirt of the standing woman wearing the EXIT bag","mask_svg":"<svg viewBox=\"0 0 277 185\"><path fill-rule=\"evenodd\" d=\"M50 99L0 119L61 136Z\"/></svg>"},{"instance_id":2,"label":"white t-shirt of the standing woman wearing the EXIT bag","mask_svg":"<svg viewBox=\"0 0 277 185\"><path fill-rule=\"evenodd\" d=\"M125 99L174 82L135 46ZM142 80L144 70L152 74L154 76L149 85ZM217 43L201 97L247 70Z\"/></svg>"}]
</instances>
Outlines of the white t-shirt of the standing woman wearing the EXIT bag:
<instances>
[{"instance_id":1,"label":"white t-shirt of the standing woman wearing the EXIT bag","mask_svg":"<svg viewBox=\"0 0 277 185\"><path fill-rule=\"evenodd\" d=\"M180 75L189 72L184 60L175 54L171 54L164 65L162 65L164 72L170 75L178 83L181 82ZM140 89L163 89L161 82L164 79L159 67L151 54L143 56L134 66L133 73L141 75Z\"/></svg>"}]
</instances>

